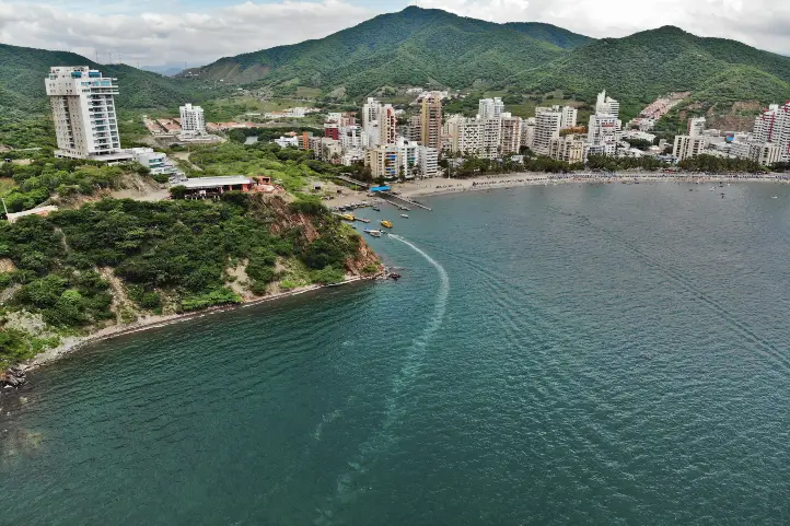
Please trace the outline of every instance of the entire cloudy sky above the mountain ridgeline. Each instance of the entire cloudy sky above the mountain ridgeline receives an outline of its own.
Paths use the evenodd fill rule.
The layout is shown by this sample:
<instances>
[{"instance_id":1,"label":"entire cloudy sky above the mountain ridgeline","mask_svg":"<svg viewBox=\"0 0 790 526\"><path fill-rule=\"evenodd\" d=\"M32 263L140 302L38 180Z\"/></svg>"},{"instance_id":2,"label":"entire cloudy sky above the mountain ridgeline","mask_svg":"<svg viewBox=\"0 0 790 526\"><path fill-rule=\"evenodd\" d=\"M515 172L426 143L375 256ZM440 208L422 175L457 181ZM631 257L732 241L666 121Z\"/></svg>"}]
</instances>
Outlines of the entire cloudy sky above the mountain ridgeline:
<instances>
[{"instance_id":1,"label":"entire cloudy sky above the mountain ridgeline","mask_svg":"<svg viewBox=\"0 0 790 526\"><path fill-rule=\"evenodd\" d=\"M790 55L786 0L0 0L0 43L137 66L220 57L321 38L409 5L493 22L548 22L594 37L677 25Z\"/></svg>"}]
</instances>

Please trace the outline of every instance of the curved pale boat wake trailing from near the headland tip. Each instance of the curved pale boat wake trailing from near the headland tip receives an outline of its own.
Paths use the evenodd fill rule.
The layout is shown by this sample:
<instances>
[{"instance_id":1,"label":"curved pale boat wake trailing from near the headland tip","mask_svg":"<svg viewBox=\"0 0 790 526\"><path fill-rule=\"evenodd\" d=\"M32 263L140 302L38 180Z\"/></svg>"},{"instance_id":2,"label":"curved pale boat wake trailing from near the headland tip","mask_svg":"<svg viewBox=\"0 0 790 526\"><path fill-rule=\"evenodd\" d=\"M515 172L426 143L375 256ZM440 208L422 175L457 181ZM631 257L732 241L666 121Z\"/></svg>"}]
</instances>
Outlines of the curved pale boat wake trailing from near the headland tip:
<instances>
[{"instance_id":1,"label":"curved pale boat wake trailing from near the headland tip","mask_svg":"<svg viewBox=\"0 0 790 526\"><path fill-rule=\"evenodd\" d=\"M333 496L327 498L326 505L317 510L318 517L314 521L316 525L333 524L334 510L336 503L348 503L357 495L364 493L365 487L358 483L357 478L368 470L368 466L376 454L386 451L396 441L394 426L397 424L406 412L406 393L414 383L420 367L422 366L433 335L441 328L444 320L444 313L448 308L448 299L450 296L450 278L446 270L440 262L429 256L425 250L404 239L399 235L390 234L390 238L396 239L409 246L417 254L422 256L439 273L439 290L435 295L433 314L428 320L428 325L409 346L404 364L397 374L393 377L392 389L385 401L384 419L381 429L365 442L363 442L356 455L347 463L348 469L337 478L337 488Z\"/></svg>"}]
</instances>

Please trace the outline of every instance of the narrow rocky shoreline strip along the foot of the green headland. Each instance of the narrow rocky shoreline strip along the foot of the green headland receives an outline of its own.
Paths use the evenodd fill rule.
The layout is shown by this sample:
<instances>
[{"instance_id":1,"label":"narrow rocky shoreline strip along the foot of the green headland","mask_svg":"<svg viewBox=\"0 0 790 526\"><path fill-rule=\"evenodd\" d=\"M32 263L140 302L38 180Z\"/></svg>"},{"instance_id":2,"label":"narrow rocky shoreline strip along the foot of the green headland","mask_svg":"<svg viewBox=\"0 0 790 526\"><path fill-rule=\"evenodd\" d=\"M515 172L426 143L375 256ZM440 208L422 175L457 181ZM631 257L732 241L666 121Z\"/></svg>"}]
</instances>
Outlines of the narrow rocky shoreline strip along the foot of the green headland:
<instances>
[{"instance_id":1,"label":"narrow rocky shoreline strip along the foot of the green headland","mask_svg":"<svg viewBox=\"0 0 790 526\"><path fill-rule=\"evenodd\" d=\"M112 340L114 338L118 338L121 336L127 335L133 335L136 332L142 332L147 330L158 329L162 327L167 327L175 324L181 324L184 322L188 322L190 319L201 318L204 316L210 316L212 314L219 314L219 313L225 313L230 311L236 311L241 308L247 308L253 307L256 305L260 305L263 303L268 303L277 300L282 300L286 297L292 297L300 294L304 294L306 292L313 292L321 289L328 289L333 287L341 287L350 283L356 283L359 281L373 281L380 278L382 274L375 274L372 277L365 277L365 276L355 276L352 278L347 278L344 281L340 281L338 283L333 283L328 285L321 285L321 284L312 284L312 285L305 285L297 288L292 291L287 292L278 292L277 294L271 294L264 297L257 297L255 300L251 300L247 302L242 303L235 303L230 305L219 305L216 307L210 307L205 311L198 311L195 313L183 313L183 314L169 314L169 315L160 315L160 316L150 316L141 322L137 322L135 324L130 325L114 325L111 327L105 327L104 329L97 330L96 332L88 336L73 336L73 337L66 337L63 338L63 341L55 348L47 349L40 353L38 353L36 356L22 362L18 364L16 366L21 369L23 372L27 373L31 371L35 371L44 365L54 363L58 361L59 359L67 356L69 354L72 354L80 349L90 346L92 343L98 343L101 341Z\"/></svg>"}]
</instances>

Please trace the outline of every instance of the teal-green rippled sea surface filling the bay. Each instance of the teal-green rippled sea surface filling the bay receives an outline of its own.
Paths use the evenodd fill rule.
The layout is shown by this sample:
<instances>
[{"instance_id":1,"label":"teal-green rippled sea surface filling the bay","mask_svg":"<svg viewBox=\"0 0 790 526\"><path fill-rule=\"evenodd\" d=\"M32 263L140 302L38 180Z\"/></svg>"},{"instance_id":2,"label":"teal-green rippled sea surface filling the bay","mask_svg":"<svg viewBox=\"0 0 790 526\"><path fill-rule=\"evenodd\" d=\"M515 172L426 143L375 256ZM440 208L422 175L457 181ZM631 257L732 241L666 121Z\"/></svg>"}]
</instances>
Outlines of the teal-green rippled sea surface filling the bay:
<instances>
[{"instance_id":1,"label":"teal-green rippled sea surface filling the bay","mask_svg":"<svg viewBox=\"0 0 790 526\"><path fill-rule=\"evenodd\" d=\"M423 200L399 282L33 374L0 524L790 524L790 186Z\"/></svg>"}]
</instances>

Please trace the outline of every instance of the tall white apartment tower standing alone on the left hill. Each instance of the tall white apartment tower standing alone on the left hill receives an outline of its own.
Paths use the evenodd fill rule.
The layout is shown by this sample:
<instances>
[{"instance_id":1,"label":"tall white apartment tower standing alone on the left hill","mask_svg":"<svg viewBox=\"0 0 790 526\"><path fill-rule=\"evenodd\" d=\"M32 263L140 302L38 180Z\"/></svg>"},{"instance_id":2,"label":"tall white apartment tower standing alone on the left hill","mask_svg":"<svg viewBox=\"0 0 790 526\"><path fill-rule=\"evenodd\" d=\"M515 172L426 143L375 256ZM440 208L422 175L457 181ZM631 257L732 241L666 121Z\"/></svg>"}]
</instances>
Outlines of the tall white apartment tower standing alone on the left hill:
<instances>
[{"instance_id":1,"label":"tall white apartment tower standing alone on the left hill","mask_svg":"<svg viewBox=\"0 0 790 526\"><path fill-rule=\"evenodd\" d=\"M58 140L56 155L102 160L121 153L116 79L86 66L56 67L45 84Z\"/></svg>"}]
</instances>

